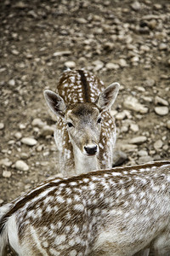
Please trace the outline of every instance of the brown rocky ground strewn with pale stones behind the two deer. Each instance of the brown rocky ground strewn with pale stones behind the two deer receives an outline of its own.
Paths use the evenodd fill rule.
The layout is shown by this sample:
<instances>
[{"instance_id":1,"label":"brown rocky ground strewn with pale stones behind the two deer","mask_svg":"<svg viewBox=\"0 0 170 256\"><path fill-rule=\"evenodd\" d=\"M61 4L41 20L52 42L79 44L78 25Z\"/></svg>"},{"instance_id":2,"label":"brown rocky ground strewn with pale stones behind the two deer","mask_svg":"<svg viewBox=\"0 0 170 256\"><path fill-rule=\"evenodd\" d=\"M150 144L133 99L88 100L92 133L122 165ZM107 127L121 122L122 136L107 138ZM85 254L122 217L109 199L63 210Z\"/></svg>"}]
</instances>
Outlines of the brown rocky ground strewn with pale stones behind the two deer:
<instances>
[{"instance_id":1,"label":"brown rocky ground strewn with pale stones behind the two deer","mask_svg":"<svg viewBox=\"0 0 170 256\"><path fill-rule=\"evenodd\" d=\"M0 9L0 204L58 173L42 92L65 67L121 84L112 113L124 165L170 159L169 0L5 0Z\"/></svg>"}]
</instances>

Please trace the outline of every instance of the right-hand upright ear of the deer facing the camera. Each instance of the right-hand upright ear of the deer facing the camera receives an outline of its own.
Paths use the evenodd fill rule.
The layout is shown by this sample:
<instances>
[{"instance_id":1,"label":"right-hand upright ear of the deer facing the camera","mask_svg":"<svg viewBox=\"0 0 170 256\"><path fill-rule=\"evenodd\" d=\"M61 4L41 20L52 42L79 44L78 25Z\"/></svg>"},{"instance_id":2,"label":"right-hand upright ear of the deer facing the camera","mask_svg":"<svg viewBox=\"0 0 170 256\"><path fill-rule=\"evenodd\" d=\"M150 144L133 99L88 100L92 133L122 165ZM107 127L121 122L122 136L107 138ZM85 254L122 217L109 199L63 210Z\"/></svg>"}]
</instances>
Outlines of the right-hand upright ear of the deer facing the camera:
<instances>
[{"instance_id":1,"label":"right-hand upright ear of the deer facing the camera","mask_svg":"<svg viewBox=\"0 0 170 256\"><path fill-rule=\"evenodd\" d=\"M104 112L111 108L116 100L116 96L119 91L120 84L113 83L102 91L95 102L101 112Z\"/></svg>"}]
</instances>

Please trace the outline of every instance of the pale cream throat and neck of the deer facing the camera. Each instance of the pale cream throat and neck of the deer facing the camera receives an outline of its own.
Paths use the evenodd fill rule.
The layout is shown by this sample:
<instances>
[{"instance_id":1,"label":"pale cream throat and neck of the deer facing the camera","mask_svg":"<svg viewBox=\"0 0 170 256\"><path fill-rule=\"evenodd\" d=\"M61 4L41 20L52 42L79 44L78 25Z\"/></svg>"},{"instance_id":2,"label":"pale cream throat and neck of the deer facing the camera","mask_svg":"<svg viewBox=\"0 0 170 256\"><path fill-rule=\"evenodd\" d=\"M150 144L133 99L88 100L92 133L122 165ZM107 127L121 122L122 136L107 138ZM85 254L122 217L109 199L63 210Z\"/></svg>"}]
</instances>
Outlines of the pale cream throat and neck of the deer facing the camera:
<instances>
[{"instance_id":1,"label":"pale cream throat and neck of the deer facing the camera","mask_svg":"<svg viewBox=\"0 0 170 256\"><path fill-rule=\"evenodd\" d=\"M75 170L77 175L87 173L94 170L99 170L98 156L88 156L82 154L76 145L73 146L74 159L75 159Z\"/></svg>"}]
</instances>

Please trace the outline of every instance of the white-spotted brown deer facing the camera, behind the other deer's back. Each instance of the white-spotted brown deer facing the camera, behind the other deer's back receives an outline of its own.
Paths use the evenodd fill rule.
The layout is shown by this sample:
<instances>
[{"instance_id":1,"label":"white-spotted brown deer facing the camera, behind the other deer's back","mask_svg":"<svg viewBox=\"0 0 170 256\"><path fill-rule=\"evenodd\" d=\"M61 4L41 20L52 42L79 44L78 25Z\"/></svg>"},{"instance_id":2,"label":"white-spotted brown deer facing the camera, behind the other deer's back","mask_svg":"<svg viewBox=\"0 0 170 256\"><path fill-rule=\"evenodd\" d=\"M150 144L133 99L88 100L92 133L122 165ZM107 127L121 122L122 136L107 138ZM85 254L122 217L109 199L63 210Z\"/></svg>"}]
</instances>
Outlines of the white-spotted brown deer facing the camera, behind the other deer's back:
<instances>
[{"instance_id":1,"label":"white-spotted brown deer facing the camera, behind the other deer's back","mask_svg":"<svg viewBox=\"0 0 170 256\"><path fill-rule=\"evenodd\" d=\"M116 125L110 109L118 90L118 83L105 89L101 80L81 69L66 70L57 93L44 91L57 120L54 139L64 176L111 168Z\"/></svg>"}]
</instances>

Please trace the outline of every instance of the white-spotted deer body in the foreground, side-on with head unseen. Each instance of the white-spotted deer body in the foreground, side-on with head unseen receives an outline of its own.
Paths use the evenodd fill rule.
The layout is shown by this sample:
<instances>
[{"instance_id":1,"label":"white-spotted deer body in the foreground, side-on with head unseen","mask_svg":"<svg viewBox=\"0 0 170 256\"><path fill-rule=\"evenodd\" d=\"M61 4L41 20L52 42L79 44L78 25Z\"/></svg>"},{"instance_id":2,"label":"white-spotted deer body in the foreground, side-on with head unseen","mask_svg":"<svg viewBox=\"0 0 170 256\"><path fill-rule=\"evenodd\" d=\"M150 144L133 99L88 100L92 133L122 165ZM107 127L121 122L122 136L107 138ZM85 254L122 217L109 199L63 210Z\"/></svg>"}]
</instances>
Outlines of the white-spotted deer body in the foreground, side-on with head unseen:
<instances>
[{"instance_id":1,"label":"white-spotted deer body in the foreground, side-on with head unseen","mask_svg":"<svg viewBox=\"0 0 170 256\"><path fill-rule=\"evenodd\" d=\"M0 256L170 255L170 160L51 177L0 207Z\"/></svg>"}]
</instances>

